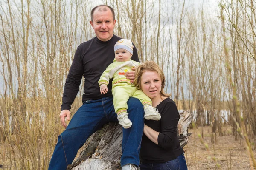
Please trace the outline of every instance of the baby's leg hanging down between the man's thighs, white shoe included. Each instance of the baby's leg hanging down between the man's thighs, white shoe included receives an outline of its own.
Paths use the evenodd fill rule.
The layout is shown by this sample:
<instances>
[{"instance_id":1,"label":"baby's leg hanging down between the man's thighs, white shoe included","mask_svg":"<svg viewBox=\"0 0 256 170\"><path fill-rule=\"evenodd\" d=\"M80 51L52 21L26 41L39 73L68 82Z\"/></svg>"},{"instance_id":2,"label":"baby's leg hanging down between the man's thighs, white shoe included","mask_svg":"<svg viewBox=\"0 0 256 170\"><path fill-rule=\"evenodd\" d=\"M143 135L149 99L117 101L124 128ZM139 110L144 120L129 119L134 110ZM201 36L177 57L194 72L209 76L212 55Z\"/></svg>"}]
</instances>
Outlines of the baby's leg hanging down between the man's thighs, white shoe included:
<instances>
[{"instance_id":1,"label":"baby's leg hanging down between the man's thighs, white shoe included","mask_svg":"<svg viewBox=\"0 0 256 170\"><path fill-rule=\"evenodd\" d=\"M113 105L115 112L117 113L117 119L119 124L122 125L122 127L125 129L130 128L132 125L127 113L127 101L130 98L128 92L129 91L126 86L118 85L112 88Z\"/></svg>"}]
</instances>

